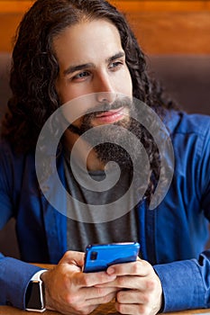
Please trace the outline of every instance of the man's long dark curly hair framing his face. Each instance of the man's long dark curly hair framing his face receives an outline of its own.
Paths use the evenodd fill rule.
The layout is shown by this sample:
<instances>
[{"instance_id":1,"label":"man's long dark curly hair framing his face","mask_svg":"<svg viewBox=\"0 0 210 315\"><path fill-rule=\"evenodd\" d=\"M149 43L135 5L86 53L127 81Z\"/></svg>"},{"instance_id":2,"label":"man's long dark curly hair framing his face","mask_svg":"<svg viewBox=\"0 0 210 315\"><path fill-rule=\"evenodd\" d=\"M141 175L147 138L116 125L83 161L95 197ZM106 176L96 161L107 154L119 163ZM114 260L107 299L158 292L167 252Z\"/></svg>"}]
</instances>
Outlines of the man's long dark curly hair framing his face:
<instances>
[{"instance_id":1,"label":"man's long dark curly hair framing his face","mask_svg":"<svg viewBox=\"0 0 210 315\"><path fill-rule=\"evenodd\" d=\"M16 33L10 76L13 95L2 122L2 136L19 152L35 149L45 121L60 106L55 88L59 64L52 41L67 27L84 19L105 19L119 31L135 98L160 114L164 108L175 107L173 102L164 99L160 85L148 76L142 49L124 15L114 5L105 0L37 0L23 16ZM142 141L148 148L153 175L158 179L159 152L151 145L146 130Z\"/></svg>"}]
</instances>

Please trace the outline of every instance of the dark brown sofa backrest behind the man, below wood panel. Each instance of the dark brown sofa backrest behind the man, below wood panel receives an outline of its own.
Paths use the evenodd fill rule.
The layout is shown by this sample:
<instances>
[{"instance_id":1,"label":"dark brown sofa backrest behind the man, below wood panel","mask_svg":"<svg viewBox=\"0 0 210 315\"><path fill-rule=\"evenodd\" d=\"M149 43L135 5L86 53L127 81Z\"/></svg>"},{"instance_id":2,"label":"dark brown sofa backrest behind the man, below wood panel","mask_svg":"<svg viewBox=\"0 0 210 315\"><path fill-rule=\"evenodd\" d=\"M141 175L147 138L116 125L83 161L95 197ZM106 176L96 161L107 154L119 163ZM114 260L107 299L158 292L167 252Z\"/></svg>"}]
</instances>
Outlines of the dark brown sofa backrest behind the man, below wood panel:
<instances>
[{"instance_id":1,"label":"dark brown sofa backrest behind the man, below wood panel","mask_svg":"<svg viewBox=\"0 0 210 315\"><path fill-rule=\"evenodd\" d=\"M8 85L10 60L9 54L0 53L0 118L11 94ZM210 114L210 55L149 56L148 69L183 110ZM0 251L19 257L14 224L11 220L0 231Z\"/></svg>"}]
</instances>

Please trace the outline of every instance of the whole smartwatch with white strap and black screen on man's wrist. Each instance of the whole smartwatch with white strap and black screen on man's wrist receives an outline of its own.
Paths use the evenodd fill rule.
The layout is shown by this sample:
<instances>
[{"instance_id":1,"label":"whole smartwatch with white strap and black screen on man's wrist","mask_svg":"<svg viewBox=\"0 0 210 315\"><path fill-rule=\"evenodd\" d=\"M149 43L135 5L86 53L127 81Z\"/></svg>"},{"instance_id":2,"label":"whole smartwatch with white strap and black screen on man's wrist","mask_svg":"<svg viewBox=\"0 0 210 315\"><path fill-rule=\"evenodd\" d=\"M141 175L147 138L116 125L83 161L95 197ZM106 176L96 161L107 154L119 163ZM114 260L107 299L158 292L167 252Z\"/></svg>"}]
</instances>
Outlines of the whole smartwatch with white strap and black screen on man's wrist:
<instances>
[{"instance_id":1,"label":"whole smartwatch with white strap and black screen on man's wrist","mask_svg":"<svg viewBox=\"0 0 210 315\"><path fill-rule=\"evenodd\" d=\"M46 270L41 270L33 275L30 283L28 284L25 296L26 311L46 311L44 301L44 284L41 280L41 274L45 271Z\"/></svg>"}]
</instances>

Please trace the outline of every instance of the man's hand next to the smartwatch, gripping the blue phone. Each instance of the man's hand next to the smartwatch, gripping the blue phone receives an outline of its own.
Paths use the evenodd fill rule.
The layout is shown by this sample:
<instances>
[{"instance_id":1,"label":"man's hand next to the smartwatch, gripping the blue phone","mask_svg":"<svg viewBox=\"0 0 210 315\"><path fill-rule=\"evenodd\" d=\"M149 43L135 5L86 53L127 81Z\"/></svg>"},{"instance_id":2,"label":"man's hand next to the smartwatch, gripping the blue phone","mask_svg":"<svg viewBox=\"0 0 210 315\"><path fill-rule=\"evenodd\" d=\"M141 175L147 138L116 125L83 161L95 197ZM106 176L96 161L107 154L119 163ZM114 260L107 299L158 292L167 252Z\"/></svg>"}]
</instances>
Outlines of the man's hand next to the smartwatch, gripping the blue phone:
<instances>
[{"instance_id":1,"label":"man's hand next to the smartwatch, gripping the blue phone","mask_svg":"<svg viewBox=\"0 0 210 315\"><path fill-rule=\"evenodd\" d=\"M84 255L68 251L58 266L41 275L47 309L63 314L89 314L99 304L113 300L117 290L113 285L105 288L95 285L113 282L116 276L83 273Z\"/></svg>"}]
</instances>

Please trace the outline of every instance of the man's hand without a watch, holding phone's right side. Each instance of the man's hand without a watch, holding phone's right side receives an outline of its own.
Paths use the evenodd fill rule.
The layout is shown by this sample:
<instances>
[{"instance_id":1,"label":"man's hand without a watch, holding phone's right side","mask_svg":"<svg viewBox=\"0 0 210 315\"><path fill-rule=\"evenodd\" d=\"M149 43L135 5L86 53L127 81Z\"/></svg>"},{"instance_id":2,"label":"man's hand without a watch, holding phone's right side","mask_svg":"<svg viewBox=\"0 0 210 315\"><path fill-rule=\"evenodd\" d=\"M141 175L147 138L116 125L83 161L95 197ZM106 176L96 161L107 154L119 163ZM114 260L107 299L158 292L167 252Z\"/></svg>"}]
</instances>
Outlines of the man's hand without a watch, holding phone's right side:
<instances>
[{"instance_id":1,"label":"man's hand without a watch, holding phone's right side","mask_svg":"<svg viewBox=\"0 0 210 315\"><path fill-rule=\"evenodd\" d=\"M116 275L113 283L96 285L121 288L116 293L115 308L122 314L153 315L160 311L162 287L152 266L145 260L110 266L108 275ZM124 289L124 290L123 290Z\"/></svg>"}]
</instances>

